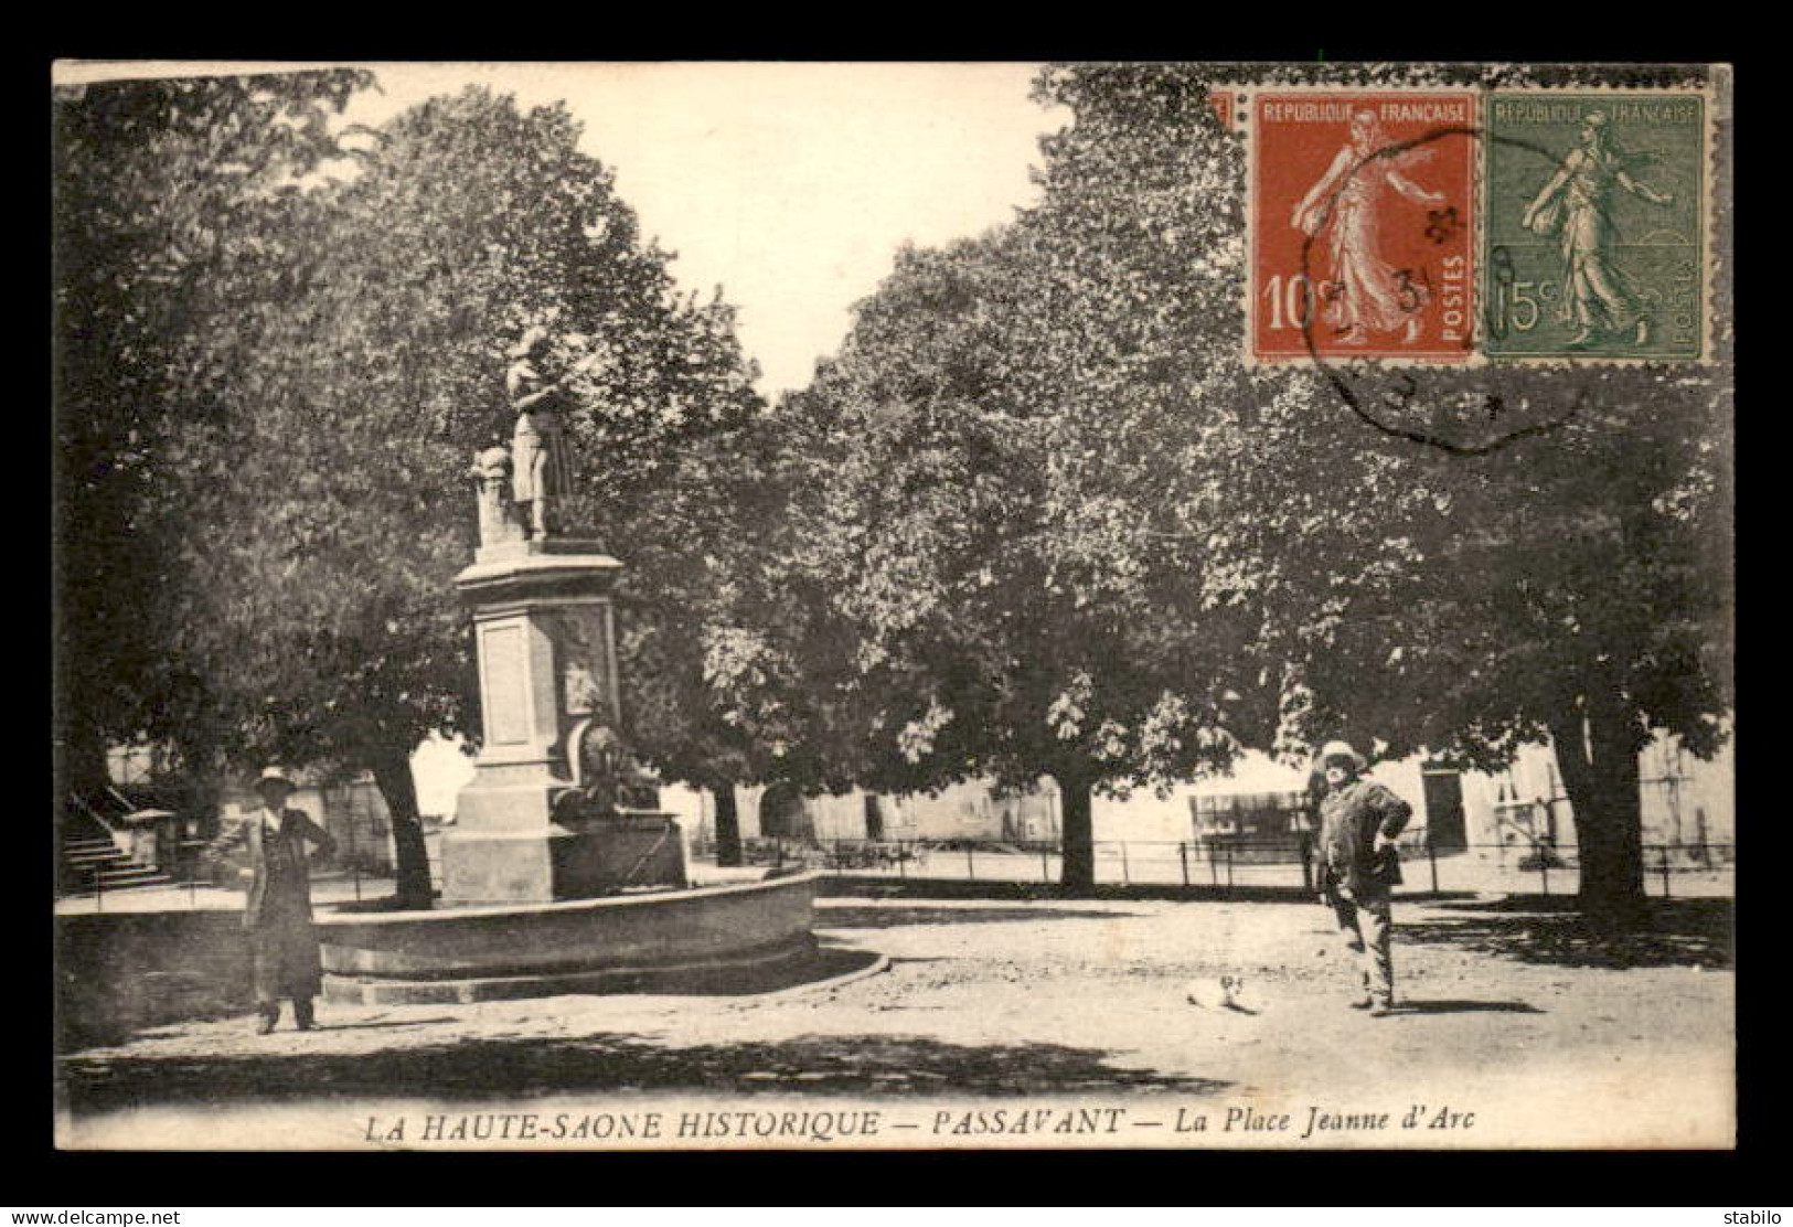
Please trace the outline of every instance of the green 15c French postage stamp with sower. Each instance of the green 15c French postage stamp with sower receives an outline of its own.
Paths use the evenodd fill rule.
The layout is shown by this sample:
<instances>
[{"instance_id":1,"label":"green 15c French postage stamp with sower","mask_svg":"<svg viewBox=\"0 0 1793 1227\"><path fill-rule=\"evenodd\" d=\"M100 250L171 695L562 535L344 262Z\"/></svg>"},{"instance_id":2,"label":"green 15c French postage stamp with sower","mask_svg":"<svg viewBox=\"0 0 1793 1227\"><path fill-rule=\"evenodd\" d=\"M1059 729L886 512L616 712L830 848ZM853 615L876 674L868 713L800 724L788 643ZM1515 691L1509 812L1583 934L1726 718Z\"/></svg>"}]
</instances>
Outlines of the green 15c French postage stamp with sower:
<instances>
[{"instance_id":1,"label":"green 15c French postage stamp with sower","mask_svg":"<svg viewBox=\"0 0 1793 1227\"><path fill-rule=\"evenodd\" d=\"M1486 97L1490 361L1703 357L1711 104L1702 91Z\"/></svg>"}]
</instances>

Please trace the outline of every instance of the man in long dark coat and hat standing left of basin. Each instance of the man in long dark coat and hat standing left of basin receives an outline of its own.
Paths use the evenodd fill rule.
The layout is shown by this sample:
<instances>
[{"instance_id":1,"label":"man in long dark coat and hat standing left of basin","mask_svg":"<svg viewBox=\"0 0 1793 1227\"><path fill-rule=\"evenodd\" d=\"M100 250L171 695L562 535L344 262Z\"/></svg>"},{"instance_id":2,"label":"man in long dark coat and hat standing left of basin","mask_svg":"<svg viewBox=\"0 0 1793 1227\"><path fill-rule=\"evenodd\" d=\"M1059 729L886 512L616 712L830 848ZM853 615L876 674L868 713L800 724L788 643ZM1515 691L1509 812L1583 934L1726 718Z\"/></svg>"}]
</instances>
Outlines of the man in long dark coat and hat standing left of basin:
<instances>
[{"instance_id":1,"label":"man in long dark coat and hat standing left of basin","mask_svg":"<svg viewBox=\"0 0 1793 1227\"><path fill-rule=\"evenodd\" d=\"M249 935L255 963L255 1006L262 1015L256 1031L267 1035L280 1021L280 1001L292 1001L301 1031L312 1030L312 997L323 987L317 936L312 933L312 879L307 843L319 856L335 852L330 832L305 811L287 809L294 784L280 768L267 768L255 782L262 807L238 820L206 848L208 859L246 847L253 879L244 902L242 927Z\"/></svg>"}]
</instances>

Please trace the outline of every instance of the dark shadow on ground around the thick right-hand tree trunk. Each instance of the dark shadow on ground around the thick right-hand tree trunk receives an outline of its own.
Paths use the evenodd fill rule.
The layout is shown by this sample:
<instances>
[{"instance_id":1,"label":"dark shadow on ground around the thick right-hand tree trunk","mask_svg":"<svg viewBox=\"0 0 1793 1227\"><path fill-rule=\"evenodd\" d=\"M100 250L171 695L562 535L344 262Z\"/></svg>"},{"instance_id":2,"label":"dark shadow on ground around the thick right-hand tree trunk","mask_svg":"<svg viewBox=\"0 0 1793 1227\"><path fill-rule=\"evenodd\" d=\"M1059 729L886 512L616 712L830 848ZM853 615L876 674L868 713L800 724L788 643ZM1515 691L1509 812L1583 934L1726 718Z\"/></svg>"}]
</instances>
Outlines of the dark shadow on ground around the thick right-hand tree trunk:
<instances>
[{"instance_id":1,"label":"dark shadow on ground around the thick right-hand tree trunk","mask_svg":"<svg viewBox=\"0 0 1793 1227\"><path fill-rule=\"evenodd\" d=\"M1549 967L1730 967L1736 904L1730 899L1651 901L1644 920L1610 933L1576 913L1571 901L1503 899L1438 904L1406 922L1402 942L1456 945L1476 954ZM1436 915L1451 913L1451 915Z\"/></svg>"}]
</instances>

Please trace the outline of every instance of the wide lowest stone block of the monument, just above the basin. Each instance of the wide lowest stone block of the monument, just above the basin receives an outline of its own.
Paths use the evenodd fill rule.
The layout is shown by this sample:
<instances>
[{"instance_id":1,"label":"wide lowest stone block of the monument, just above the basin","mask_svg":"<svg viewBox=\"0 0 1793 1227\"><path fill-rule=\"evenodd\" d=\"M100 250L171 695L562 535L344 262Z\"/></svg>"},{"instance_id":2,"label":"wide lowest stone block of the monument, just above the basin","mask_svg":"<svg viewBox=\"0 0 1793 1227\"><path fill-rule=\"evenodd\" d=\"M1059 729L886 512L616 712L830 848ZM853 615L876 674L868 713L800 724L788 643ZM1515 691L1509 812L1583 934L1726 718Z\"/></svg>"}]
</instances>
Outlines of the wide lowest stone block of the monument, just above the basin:
<instances>
[{"instance_id":1,"label":"wide lowest stone block of the monument, just above the basin","mask_svg":"<svg viewBox=\"0 0 1793 1227\"><path fill-rule=\"evenodd\" d=\"M685 848L678 822L667 814L622 814L577 827L455 831L443 840L445 906L685 886Z\"/></svg>"}]
</instances>

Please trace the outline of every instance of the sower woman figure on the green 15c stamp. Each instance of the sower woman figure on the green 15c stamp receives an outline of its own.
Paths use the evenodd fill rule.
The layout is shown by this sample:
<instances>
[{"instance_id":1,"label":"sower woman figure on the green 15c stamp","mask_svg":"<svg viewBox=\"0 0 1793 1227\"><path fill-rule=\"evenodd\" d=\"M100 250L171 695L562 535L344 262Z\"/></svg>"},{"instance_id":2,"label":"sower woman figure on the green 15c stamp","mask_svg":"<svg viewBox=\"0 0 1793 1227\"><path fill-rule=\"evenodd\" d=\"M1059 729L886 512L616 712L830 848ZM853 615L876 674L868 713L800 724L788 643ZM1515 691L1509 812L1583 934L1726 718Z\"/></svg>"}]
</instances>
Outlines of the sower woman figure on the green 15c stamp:
<instances>
[{"instance_id":1,"label":"sower woman figure on the green 15c stamp","mask_svg":"<svg viewBox=\"0 0 1793 1227\"><path fill-rule=\"evenodd\" d=\"M1569 344L1589 344L1596 332L1632 334L1635 344L1650 341L1650 318L1612 253L1619 240L1614 188L1651 204L1671 204L1675 197L1635 181L1630 163L1607 131L1607 115L1589 111L1581 118L1581 147L1569 151L1520 219L1540 235L1562 230L1563 318L1576 328Z\"/></svg>"}]
</instances>

